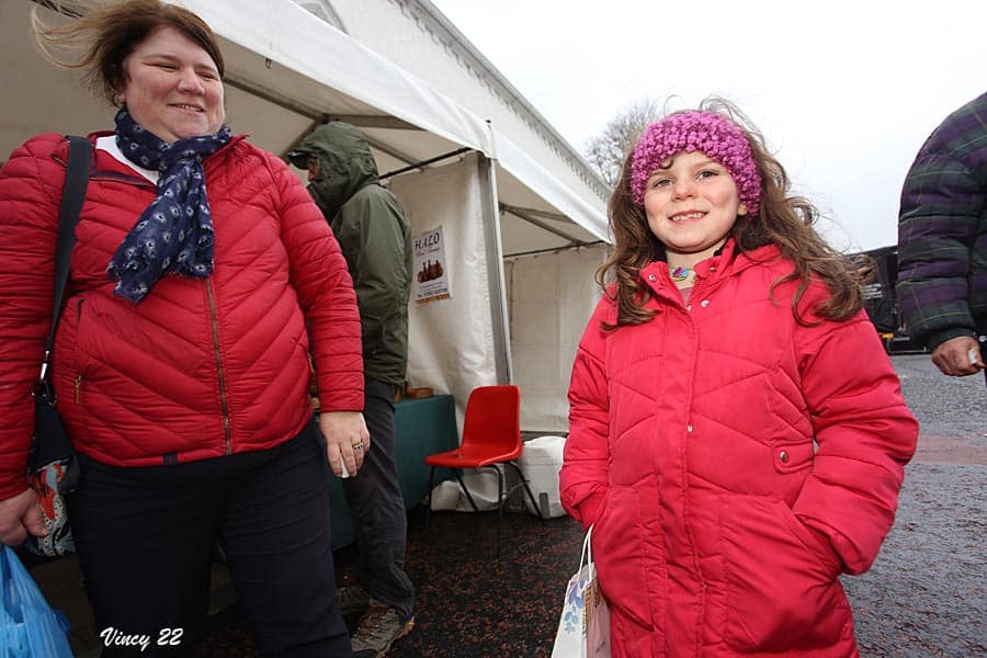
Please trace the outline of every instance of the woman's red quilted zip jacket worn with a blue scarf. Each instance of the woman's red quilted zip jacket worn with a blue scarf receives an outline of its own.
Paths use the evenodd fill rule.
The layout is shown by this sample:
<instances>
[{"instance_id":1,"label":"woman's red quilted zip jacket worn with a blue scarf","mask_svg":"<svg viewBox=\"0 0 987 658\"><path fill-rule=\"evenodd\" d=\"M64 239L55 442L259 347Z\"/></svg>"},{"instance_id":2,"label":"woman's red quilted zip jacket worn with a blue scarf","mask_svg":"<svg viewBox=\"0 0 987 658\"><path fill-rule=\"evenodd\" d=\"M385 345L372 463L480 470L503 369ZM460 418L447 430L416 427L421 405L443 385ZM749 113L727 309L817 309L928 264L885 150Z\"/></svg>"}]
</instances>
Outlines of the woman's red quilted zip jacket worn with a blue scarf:
<instances>
[{"instance_id":1,"label":"woman's red quilted zip jacket worn with a blue scarf","mask_svg":"<svg viewBox=\"0 0 987 658\"><path fill-rule=\"evenodd\" d=\"M0 172L0 499L26 487L67 148L39 135ZM190 462L291 439L311 418L309 336L322 409L363 408L356 298L321 212L242 137L204 167L214 273L167 276L135 305L113 294L106 265L155 186L94 150L54 379L76 449L100 462Z\"/></svg>"}]
</instances>

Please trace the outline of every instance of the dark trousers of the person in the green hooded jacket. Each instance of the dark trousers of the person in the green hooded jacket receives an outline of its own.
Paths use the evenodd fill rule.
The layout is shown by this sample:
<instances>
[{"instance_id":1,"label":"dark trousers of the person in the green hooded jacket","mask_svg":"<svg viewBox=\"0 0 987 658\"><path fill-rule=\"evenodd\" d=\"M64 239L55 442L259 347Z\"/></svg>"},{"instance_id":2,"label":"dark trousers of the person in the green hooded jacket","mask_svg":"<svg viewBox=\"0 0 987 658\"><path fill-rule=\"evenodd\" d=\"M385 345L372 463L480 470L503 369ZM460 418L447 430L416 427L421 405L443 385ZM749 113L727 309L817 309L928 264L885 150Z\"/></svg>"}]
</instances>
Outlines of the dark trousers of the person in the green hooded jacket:
<instances>
[{"instance_id":1,"label":"dark trousers of the person in the green hooded jacket","mask_svg":"<svg viewBox=\"0 0 987 658\"><path fill-rule=\"evenodd\" d=\"M342 480L356 538L356 580L371 597L407 620L412 614L415 586L405 574L408 518L395 463L397 387L367 378L364 390L363 416L371 449L356 476Z\"/></svg>"}]
</instances>

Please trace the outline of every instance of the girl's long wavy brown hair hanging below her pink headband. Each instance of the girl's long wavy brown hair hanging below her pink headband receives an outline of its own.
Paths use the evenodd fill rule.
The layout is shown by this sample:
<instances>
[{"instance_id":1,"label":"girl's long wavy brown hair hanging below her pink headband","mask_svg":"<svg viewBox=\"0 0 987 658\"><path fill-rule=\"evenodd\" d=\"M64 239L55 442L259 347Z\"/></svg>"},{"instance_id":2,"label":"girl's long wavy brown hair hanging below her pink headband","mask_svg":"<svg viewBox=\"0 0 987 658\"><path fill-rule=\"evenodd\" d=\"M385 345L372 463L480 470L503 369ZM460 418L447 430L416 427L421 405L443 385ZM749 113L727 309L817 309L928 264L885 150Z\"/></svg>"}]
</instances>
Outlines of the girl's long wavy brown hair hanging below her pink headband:
<instances>
[{"instance_id":1,"label":"girl's long wavy brown hair hanging below her pink headband","mask_svg":"<svg viewBox=\"0 0 987 658\"><path fill-rule=\"evenodd\" d=\"M806 198L791 193L791 183L781 163L768 151L761 133L728 101L718 98L704 100L699 107L715 112L737 124L747 136L761 177L760 211L756 216L738 216L730 236L737 251L749 251L765 245L776 245L795 269L771 285L769 294L785 281L797 281L792 299L792 313L801 325L810 325L799 310L799 302L813 280L821 281L829 290L829 298L812 313L820 318L843 320L863 305L861 285L872 275L865 260L846 257L830 247L813 228L819 212ZM645 308L650 298L648 287L638 272L654 260L665 260L665 246L648 228L645 209L634 203L631 192L633 149L624 158L621 177L610 197L608 215L614 249L597 271L597 282L608 291L614 283L612 296L617 304L615 325L640 325L654 316ZM610 294L608 292L606 294Z\"/></svg>"}]
</instances>

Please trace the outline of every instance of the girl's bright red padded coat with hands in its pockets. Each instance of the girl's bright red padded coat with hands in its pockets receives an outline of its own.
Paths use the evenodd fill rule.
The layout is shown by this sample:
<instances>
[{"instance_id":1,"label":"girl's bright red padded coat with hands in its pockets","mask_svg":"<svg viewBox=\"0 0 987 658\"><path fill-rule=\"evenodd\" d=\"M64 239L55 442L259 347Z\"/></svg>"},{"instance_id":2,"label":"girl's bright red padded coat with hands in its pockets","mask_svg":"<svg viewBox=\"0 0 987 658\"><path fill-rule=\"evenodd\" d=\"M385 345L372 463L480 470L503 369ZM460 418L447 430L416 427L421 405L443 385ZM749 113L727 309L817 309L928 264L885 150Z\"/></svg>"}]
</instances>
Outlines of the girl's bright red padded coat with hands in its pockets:
<instances>
[{"instance_id":1,"label":"girl's bright red padded coat with hands in its pockets","mask_svg":"<svg viewBox=\"0 0 987 658\"><path fill-rule=\"evenodd\" d=\"M837 577L876 557L918 424L863 311L801 326L794 284L769 298L778 249L731 252L688 306L645 268L654 319L604 332L604 295L576 356L561 499L593 524L614 658L856 655Z\"/></svg>"}]
</instances>

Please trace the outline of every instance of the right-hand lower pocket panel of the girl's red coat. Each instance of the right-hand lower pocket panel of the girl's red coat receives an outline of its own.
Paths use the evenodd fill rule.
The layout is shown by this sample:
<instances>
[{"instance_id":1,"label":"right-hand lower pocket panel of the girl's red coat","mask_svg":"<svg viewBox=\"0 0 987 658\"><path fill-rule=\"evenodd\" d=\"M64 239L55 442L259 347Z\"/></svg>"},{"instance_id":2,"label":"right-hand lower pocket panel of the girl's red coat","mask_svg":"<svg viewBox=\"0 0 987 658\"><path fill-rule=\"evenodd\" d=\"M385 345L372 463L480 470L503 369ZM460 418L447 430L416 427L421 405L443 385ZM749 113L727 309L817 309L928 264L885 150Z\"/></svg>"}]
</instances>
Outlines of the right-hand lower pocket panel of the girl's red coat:
<instances>
[{"instance_id":1,"label":"right-hand lower pocket panel of the girl's red coat","mask_svg":"<svg viewBox=\"0 0 987 658\"><path fill-rule=\"evenodd\" d=\"M852 634L839 559L784 501L727 496L723 533L729 646L814 649Z\"/></svg>"}]
</instances>

